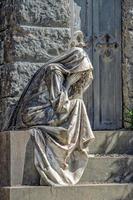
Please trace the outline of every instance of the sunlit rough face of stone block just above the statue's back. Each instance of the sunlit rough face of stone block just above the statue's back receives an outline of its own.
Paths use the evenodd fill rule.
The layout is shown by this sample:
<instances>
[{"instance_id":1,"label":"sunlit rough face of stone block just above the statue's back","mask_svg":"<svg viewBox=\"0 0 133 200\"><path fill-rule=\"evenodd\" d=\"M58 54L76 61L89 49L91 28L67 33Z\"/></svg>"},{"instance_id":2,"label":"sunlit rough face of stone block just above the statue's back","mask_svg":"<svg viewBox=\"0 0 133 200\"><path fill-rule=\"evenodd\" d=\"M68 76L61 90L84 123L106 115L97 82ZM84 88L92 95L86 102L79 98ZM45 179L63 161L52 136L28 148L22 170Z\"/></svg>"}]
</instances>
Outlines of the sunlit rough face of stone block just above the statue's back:
<instances>
[{"instance_id":1,"label":"sunlit rough face of stone block just above the statue's back","mask_svg":"<svg viewBox=\"0 0 133 200\"><path fill-rule=\"evenodd\" d=\"M68 49L70 29L23 26L13 36L15 60L46 62Z\"/></svg>"}]
</instances>

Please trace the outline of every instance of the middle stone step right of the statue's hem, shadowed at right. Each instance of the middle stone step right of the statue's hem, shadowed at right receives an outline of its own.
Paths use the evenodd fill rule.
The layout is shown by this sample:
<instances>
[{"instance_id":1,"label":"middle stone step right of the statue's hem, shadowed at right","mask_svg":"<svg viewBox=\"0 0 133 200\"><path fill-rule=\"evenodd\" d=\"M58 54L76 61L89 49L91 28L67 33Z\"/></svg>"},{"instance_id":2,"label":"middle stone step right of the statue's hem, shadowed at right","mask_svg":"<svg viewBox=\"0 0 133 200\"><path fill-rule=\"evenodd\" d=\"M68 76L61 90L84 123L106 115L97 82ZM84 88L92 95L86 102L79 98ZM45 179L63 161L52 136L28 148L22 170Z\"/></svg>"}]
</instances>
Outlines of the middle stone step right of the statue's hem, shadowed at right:
<instances>
[{"instance_id":1,"label":"middle stone step right of the statue's hem, shadowed at right","mask_svg":"<svg viewBox=\"0 0 133 200\"><path fill-rule=\"evenodd\" d=\"M110 155L90 157L81 183L133 182L133 156Z\"/></svg>"}]
</instances>

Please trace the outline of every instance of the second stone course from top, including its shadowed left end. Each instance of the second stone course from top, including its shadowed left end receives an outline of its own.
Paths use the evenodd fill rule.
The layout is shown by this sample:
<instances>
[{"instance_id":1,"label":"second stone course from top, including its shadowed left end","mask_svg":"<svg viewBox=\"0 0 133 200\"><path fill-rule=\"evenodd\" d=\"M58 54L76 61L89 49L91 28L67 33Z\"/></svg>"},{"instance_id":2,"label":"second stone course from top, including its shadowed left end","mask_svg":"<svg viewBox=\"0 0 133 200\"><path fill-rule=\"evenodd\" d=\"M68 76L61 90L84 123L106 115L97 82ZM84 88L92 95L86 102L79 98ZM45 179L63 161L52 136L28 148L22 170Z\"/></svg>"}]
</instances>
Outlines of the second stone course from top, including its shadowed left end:
<instances>
[{"instance_id":1,"label":"second stone course from top, including its shadowed left end","mask_svg":"<svg viewBox=\"0 0 133 200\"><path fill-rule=\"evenodd\" d=\"M4 31L0 39L0 63L46 62L68 49L69 28L21 26Z\"/></svg>"}]
</instances>

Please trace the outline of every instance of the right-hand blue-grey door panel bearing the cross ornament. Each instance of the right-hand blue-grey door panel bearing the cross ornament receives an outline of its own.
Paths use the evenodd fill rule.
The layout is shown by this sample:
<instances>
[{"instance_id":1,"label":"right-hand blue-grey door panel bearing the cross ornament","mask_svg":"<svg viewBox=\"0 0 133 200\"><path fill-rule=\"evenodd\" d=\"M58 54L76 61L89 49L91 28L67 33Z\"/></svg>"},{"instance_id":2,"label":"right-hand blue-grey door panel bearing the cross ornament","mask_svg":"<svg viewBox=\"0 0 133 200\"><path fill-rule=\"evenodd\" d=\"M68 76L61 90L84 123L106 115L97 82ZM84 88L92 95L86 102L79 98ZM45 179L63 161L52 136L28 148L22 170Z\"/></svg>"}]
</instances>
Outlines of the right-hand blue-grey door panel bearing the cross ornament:
<instances>
[{"instance_id":1,"label":"right-hand blue-grey door panel bearing the cross ornament","mask_svg":"<svg viewBox=\"0 0 133 200\"><path fill-rule=\"evenodd\" d=\"M121 1L93 0L94 128L121 128Z\"/></svg>"}]
</instances>

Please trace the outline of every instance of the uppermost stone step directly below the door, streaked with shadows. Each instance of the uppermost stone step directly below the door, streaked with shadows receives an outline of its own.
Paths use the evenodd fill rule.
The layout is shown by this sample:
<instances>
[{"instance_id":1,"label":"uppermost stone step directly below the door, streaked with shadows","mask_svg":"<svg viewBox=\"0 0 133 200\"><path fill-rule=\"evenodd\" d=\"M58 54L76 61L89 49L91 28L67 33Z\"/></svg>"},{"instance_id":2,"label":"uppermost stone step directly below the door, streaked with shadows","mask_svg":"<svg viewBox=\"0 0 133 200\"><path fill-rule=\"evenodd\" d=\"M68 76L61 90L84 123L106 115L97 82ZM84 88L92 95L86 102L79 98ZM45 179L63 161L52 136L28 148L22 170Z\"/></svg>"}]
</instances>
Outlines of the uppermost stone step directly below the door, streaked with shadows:
<instances>
[{"instance_id":1,"label":"uppermost stone step directly below the door, streaked with shadows","mask_svg":"<svg viewBox=\"0 0 133 200\"><path fill-rule=\"evenodd\" d=\"M90 144L92 154L133 154L133 131L94 131L95 141Z\"/></svg>"}]
</instances>

